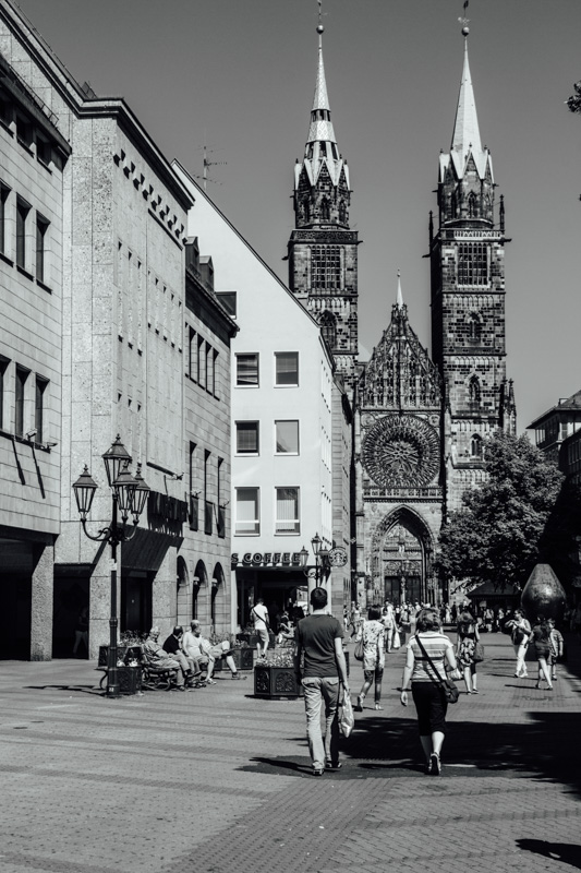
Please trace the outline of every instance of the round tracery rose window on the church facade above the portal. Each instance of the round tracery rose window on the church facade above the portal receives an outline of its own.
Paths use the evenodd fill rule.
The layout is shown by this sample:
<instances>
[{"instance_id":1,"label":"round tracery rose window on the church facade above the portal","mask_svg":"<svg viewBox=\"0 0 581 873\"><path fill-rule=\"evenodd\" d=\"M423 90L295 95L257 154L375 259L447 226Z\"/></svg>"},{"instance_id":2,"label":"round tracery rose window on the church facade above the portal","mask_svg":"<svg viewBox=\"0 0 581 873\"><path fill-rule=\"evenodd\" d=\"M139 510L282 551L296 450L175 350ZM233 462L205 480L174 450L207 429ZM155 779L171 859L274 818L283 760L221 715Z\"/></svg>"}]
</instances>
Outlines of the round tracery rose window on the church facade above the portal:
<instances>
[{"instance_id":1,"label":"round tracery rose window on the church facade above the portal","mask_svg":"<svg viewBox=\"0 0 581 873\"><path fill-rule=\"evenodd\" d=\"M365 436L363 466L382 488L426 486L439 469L437 431L417 416L385 416Z\"/></svg>"}]
</instances>

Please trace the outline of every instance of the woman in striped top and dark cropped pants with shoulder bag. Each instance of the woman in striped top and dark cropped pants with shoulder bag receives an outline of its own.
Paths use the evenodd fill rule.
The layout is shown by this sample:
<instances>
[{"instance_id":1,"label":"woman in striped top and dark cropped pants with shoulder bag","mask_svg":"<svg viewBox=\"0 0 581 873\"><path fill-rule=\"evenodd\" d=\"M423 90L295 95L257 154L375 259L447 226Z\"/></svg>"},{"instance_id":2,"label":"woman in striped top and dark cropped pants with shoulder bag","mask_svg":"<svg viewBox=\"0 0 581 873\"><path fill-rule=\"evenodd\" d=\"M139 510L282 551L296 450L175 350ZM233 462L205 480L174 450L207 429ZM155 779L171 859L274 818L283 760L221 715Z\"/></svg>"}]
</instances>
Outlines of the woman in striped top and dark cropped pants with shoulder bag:
<instances>
[{"instance_id":1,"label":"woman in striped top and dark cropped pants with shoulder bag","mask_svg":"<svg viewBox=\"0 0 581 873\"><path fill-rule=\"evenodd\" d=\"M439 776L440 753L446 736L448 701L441 686L446 665L456 670L452 642L440 631L440 618L433 609L422 609L416 633L408 644L408 657L401 679L401 704L408 706L408 686L417 711L420 742L426 760L426 773Z\"/></svg>"}]
</instances>

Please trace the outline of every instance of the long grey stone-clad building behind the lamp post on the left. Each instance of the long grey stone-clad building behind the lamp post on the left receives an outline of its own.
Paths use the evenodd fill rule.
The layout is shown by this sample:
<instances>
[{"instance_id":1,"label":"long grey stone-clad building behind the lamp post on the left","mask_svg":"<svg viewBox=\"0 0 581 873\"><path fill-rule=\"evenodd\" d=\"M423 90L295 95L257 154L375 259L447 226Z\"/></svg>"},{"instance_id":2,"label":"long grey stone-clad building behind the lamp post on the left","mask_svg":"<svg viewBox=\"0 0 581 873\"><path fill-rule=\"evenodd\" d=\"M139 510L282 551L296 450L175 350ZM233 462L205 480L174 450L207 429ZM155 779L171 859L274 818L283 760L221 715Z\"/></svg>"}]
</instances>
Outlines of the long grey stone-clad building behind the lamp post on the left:
<instances>
[{"instance_id":1,"label":"long grey stone-clad building behind the lamp post on the left","mask_svg":"<svg viewBox=\"0 0 581 873\"><path fill-rule=\"evenodd\" d=\"M5 651L69 655L83 607L90 653L108 641L109 550L83 534L72 483L86 464L101 486L88 523L97 533L111 513L101 456L118 433L152 489L120 549L120 629L156 622L165 633L179 612L197 610L225 630L229 519L218 487L229 492L237 327L196 265L186 271L192 199L124 100L81 87L11 0L0 2L0 51L10 313L0 327L0 598L16 617ZM201 374L192 379L192 330L203 390ZM197 433L209 419L213 430L201 423ZM206 458L202 473L192 444ZM192 477L203 479L197 529ZM201 566L216 590L197 598Z\"/></svg>"}]
</instances>

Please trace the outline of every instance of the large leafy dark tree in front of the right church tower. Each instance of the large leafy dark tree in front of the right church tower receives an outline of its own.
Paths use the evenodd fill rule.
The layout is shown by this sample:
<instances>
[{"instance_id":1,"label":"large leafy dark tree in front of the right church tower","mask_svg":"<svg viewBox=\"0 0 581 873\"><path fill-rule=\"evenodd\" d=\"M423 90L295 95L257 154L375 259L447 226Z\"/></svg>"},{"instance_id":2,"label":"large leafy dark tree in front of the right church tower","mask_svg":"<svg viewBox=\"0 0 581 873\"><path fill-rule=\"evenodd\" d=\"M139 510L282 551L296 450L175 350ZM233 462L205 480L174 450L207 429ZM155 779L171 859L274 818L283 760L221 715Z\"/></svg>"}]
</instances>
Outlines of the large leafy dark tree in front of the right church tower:
<instances>
[{"instance_id":1,"label":"large leafy dark tree in front of the right church tower","mask_svg":"<svg viewBox=\"0 0 581 873\"><path fill-rule=\"evenodd\" d=\"M522 588L564 477L526 436L498 432L486 441L485 458L488 479L450 513L438 564L447 578Z\"/></svg>"}]
</instances>

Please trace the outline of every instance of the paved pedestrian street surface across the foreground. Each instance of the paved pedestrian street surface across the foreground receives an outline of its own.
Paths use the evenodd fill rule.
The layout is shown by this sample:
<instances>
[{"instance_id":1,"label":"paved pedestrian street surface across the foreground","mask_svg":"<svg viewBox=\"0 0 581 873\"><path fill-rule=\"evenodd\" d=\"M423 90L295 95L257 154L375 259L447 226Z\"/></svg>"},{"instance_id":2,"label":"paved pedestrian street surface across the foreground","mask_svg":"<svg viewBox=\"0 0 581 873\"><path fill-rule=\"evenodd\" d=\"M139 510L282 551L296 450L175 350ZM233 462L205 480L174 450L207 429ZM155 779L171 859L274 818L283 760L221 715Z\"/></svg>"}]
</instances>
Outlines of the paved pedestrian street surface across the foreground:
<instances>
[{"instance_id":1,"label":"paved pedestrian street surface across the foreground","mask_svg":"<svg viewBox=\"0 0 581 873\"><path fill-rule=\"evenodd\" d=\"M580 645L548 692L513 678L508 637L484 643L440 778L399 704L402 651L322 779L302 701L251 678L107 701L87 661L3 661L0 873L580 870ZM353 699L361 680L354 662Z\"/></svg>"}]
</instances>

